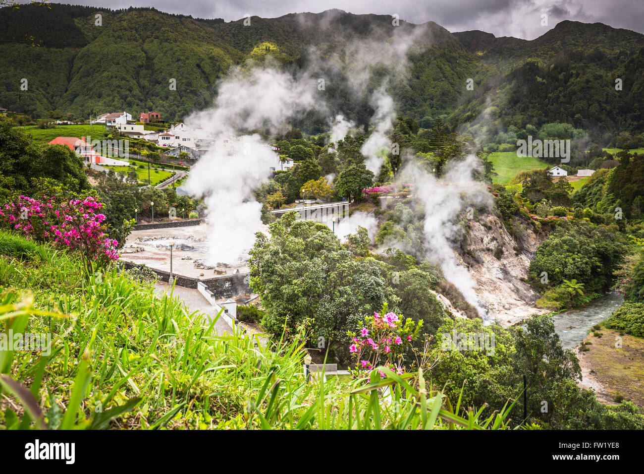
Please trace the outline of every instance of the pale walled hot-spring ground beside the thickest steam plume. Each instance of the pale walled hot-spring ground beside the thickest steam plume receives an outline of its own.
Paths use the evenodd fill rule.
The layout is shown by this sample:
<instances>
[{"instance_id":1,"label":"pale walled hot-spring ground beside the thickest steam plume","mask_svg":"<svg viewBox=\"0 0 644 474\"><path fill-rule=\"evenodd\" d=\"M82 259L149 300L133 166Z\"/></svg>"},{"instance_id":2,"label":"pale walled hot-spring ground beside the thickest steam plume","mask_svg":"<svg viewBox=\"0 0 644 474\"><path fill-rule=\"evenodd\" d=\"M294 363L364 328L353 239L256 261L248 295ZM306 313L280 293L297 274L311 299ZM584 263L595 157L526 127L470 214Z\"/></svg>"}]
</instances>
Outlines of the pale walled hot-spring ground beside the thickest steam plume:
<instances>
[{"instance_id":1,"label":"pale walled hot-spring ground beside the thickest steam plume","mask_svg":"<svg viewBox=\"0 0 644 474\"><path fill-rule=\"evenodd\" d=\"M170 242L174 242L172 271L196 279L248 272L248 255L234 264L208 265L209 226L133 231L121 250L121 260L170 271Z\"/></svg>"}]
</instances>

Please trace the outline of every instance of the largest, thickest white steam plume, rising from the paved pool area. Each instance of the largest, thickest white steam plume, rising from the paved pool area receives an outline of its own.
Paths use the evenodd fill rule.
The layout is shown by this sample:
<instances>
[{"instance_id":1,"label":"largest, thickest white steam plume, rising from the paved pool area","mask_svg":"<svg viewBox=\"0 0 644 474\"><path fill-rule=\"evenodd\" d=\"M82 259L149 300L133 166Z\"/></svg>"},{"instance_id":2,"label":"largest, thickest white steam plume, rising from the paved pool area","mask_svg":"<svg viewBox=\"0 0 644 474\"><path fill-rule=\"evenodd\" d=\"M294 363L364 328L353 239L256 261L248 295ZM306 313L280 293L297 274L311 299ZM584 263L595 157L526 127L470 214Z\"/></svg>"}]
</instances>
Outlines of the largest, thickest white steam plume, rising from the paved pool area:
<instances>
[{"instance_id":1,"label":"largest, thickest white steam plume, rising from the paved pool area","mask_svg":"<svg viewBox=\"0 0 644 474\"><path fill-rule=\"evenodd\" d=\"M272 66L235 68L220 84L214 108L186 120L205 130L214 144L186 184L207 205L208 264L238 262L261 227L261 204L252 191L269 178L279 158L259 135L248 133L278 132L289 117L319 108L315 91L310 78L294 78Z\"/></svg>"}]
</instances>

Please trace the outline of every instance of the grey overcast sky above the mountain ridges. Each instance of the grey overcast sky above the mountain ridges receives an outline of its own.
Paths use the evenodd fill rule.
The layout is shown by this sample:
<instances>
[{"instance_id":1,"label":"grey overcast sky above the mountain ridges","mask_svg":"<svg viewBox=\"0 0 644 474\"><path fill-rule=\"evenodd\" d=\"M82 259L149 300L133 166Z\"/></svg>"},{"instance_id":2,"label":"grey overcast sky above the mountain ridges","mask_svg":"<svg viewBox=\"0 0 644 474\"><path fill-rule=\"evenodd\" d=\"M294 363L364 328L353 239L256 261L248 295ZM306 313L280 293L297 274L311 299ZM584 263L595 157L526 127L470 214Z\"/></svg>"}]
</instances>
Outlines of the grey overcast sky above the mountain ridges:
<instances>
[{"instance_id":1,"label":"grey overcast sky above the mountain ridges","mask_svg":"<svg viewBox=\"0 0 644 474\"><path fill-rule=\"evenodd\" d=\"M434 21L450 32L483 30L496 36L535 39L562 20L627 28L644 33L643 0L71 0L81 5L118 9L154 6L167 13L200 18L265 18L289 13L319 13L339 8L354 14L398 14L411 23ZM548 25L542 26L542 14Z\"/></svg>"}]
</instances>

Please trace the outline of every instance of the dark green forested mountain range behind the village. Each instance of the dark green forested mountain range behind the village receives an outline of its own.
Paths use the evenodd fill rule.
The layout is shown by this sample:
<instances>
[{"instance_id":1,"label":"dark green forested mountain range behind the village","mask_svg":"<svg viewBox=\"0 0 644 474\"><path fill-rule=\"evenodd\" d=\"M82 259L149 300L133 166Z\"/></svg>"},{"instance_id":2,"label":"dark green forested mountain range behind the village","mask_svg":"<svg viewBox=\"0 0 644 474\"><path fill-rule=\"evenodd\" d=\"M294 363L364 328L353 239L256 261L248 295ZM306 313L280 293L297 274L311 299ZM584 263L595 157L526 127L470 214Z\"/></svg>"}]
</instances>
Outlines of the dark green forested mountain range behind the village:
<instances>
[{"instance_id":1,"label":"dark green forested mountain range behind the village","mask_svg":"<svg viewBox=\"0 0 644 474\"><path fill-rule=\"evenodd\" d=\"M96 14L102 15L102 26L95 25ZM388 41L394 28L413 37L410 66L390 84L401 114L417 120L450 115L448 123L459 126L492 105L492 118L504 126L561 121L585 129L637 130L644 125L644 35L564 21L526 41L484 32L450 34L431 22L401 20L394 27L388 15L339 10L252 17L251 26L244 26L243 19L225 23L153 8L3 8L0 106L36 117L52 110L88 117L155 109L178 119L211 102L217 79L232 64L269 54L292 70L331 77L330 102L366 124L373 112L368 94L356 97L344 85L341 79L350 72L343 71L343 58L353 40ZM320 57L327 61L317 61ZM168 86L173 78L176 90ZM473 91L466 89L468 78ZM623 81L622 91L614 88L616 78ZM377 85L375 75L366 91ZM314 119L308 128L316 128Z\"/></svg>"}]
</instances>

